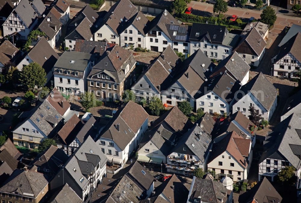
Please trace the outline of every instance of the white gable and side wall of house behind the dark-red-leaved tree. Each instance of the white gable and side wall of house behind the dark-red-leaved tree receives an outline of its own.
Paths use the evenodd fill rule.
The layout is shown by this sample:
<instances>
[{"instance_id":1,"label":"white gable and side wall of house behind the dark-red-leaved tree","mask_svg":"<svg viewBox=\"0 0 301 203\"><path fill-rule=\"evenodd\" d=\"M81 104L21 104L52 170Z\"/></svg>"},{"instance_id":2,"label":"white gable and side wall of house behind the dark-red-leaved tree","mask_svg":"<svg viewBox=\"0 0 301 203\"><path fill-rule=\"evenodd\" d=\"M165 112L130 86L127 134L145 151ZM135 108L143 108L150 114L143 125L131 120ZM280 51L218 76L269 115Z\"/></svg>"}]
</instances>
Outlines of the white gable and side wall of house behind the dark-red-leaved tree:
<instances>
[{"instance_id":1,"label":"white gable and side wall of house behind the dark-red-leaved tree","mask_svg":"<svg viewBox=\"0 0 301 203\"><path fill-rule=\"evenodd\" d=\"M262 100L264 100L265 95L262 93L257 93L261 95ZM234 98L237 99L237 98ZM254 105L256 110L259 110L259 114L261 114L262 118L265 120L270 120L277 106L277 97L274 100L274 103L269 111L267 111L261 103L254 97L254 95L249 91L248 94L244 95L240 100L238 100L232 107L232 113L235 113L237 110L241 111L245 116L250 115L249 108L250 105Z\"/></svg>"}]
</instances>

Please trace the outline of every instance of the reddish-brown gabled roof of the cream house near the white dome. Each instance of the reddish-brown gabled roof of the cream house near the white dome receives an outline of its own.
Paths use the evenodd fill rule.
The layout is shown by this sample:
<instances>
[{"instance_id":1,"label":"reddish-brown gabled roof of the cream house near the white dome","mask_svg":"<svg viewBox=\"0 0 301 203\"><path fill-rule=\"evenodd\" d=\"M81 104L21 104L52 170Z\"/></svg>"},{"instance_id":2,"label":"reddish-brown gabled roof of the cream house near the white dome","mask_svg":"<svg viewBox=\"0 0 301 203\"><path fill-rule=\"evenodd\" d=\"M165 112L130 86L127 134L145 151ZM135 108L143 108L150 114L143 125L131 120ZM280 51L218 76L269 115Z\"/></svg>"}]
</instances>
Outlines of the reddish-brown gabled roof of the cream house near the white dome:
<instances>
[{"instance_id":1,"label":"reddish-brown gabled roof of the cream house near the white dome","mask_svg":"<svg viewBox=\"0 0 301 203\"><path fill-rule=\"evenodd\" d=\"M239 139L239 140L238 140ZM213 144L212 152L209 154L208 164L227 151L243 168L247 168L248 163L244 165L244 156L248 156L250 152L250 139L244 139L242 136L232 131L224 139ZM248 146L247 149L245 149Z\"/></svg>"}]
</instances>

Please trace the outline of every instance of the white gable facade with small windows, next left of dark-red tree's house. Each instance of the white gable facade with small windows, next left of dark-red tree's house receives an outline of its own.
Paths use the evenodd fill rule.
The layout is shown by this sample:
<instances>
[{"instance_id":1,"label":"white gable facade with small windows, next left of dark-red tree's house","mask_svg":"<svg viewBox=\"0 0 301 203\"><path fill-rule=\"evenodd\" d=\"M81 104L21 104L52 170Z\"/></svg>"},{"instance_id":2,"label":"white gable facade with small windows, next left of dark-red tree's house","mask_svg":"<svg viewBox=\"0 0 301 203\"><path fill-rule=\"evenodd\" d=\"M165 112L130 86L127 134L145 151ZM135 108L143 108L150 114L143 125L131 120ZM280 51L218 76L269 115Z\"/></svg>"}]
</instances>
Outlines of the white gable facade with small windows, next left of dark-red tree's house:
<instances>
[{"instance_id":1,"label":"white gable facade with small windows, next left of dark-red tree's house","mask_svg":"<svg viewBox=\"0 0 301 203\"><path fill-rule=\"evenodd\" d=\"M198 98L196 103L197 109L201 108L204 112L209 112L211 114L216 112L222 115L227 113L228 115L230 110L230 105L213 91L209 91L207 94Z\"/></svg>"}]
</instances>

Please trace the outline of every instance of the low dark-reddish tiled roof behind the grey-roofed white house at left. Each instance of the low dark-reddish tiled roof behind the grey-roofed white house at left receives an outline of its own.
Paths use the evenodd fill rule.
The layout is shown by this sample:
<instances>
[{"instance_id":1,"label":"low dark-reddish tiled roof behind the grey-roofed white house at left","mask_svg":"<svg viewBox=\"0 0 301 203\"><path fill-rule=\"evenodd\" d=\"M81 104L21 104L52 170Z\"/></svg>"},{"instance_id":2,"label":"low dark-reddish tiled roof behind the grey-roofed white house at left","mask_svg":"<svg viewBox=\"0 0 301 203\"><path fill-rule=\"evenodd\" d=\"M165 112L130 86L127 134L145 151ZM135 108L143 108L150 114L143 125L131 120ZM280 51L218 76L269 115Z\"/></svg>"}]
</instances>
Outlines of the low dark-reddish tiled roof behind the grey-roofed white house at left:
<instances>
[{"instance_id":1,"label":"low dark-reddish tiled roof behind the grey-roofed white house at left","mask_svg":"<svg viewBox=\"0 0 301 203\"><path fill-rule=\"evenodd\" d=\"M101 56L106 51L106 48L107 42L76 39L74 51L86 54L99 54Z\"/></svg>"}]
</instances>

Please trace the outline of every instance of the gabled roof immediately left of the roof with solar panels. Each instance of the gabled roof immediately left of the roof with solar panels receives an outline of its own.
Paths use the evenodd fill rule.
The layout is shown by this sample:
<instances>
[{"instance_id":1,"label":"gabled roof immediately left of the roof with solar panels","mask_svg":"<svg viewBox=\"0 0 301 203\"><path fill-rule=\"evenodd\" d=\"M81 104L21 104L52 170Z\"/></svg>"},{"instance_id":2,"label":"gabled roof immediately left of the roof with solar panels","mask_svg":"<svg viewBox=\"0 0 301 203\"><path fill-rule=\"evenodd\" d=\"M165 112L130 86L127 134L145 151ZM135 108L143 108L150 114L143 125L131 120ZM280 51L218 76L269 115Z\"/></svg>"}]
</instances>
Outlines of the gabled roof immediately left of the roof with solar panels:
<instances>
[{"instance_id":1,"label":"gabled roof immediately left of the roof with solar panels","mask_svg":"<svg viewBox=\"0 0 301 203\"><path fill-rule=\"evenodd\" d=\"M175 25L179 25L178 20L176 20L172 14L170 14L167 10L162 11L159 15L157 15L152 21L146 25L145 33L150 32L155 27L158 27L164 34L169 36L169 32L165 26L166 23L173 23ZM171 37L169 36L171 39Z\"/></svg>"}]
</instances>

